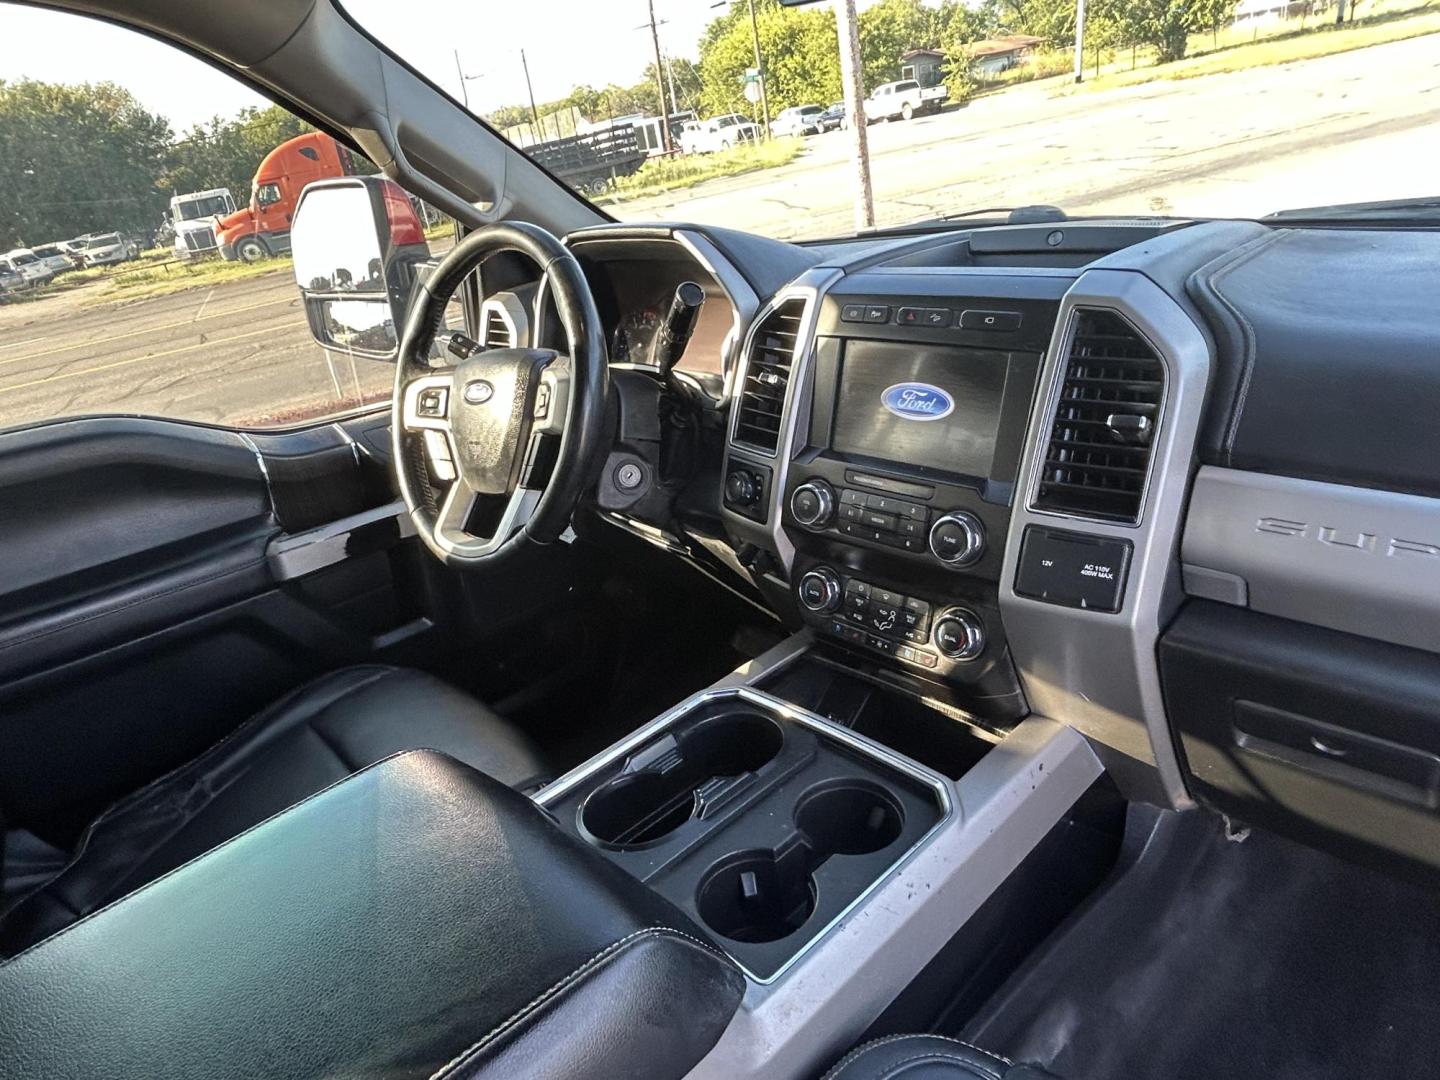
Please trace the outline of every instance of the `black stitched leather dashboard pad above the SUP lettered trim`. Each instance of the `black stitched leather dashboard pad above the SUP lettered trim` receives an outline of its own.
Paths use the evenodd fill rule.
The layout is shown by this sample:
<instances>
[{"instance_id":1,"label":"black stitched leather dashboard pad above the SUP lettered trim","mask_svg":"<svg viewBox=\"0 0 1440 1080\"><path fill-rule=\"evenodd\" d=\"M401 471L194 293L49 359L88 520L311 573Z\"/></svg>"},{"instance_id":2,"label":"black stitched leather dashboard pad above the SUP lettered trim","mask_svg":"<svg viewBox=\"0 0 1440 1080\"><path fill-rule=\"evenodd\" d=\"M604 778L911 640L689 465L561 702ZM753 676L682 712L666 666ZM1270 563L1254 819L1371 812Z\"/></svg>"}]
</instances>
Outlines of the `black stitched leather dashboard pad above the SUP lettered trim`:
<instances>
[{"instance_id":1,"label":"black stitched leather dashboard pad above the SUP lettered trim","mask_svg":"<svg viewBox=\"0 0 1440 1080\"><path fill-rule=\"evenodd\" d=\"M1205 464L1440 495L1440 233L1276 229L1187 289L1221 360Z\"/></svg>"}]
</instances>

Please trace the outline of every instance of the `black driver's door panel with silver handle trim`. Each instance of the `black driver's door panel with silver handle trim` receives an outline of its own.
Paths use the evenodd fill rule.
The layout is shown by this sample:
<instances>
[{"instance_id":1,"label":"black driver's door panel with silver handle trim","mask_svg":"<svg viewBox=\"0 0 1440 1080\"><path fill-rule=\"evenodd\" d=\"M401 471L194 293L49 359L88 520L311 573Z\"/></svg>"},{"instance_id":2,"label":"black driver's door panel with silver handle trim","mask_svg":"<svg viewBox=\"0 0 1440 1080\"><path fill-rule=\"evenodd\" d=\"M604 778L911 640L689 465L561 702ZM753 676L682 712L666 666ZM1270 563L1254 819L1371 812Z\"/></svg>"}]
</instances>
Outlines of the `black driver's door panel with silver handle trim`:
<instances>
[{"instance_id":1,"label":"black driver's door panel with silver handle trim","mask_svg":"<svg viewBox=\"0 0 1440 1080\"><path fill-rule=\"evenodd\" d=\"M10 824L71 844L300 683L425 651L444 609L386 508L384 419L348 428L101 418L0 433Z\"/></svg>"}]
</instances>

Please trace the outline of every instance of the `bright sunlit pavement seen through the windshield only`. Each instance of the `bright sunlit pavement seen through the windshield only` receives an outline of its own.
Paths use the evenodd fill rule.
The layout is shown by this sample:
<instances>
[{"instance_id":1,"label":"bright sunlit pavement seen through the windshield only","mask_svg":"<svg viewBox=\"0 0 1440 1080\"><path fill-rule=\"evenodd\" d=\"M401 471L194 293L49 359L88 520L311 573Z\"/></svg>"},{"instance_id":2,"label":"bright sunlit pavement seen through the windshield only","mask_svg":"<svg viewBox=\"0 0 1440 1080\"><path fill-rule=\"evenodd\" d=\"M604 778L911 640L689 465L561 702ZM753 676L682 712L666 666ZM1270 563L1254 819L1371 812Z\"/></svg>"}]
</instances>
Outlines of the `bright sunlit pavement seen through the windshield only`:
<instances>
[{"instance_id":1,"label":"bright sunlit pavement seen through the windshield only","mask_svg":"<svg viewBox=\"0 0 1440 1080\"><path fill-rule=\"evenodd\" d=\"M1433 194L1440 37L1299 63L1116 89L1064 79L868 128L878 225L1053 203L1070 213L1259 216ZM854 230L850 135L796 161L621 203L626 219L698 220L769 236Z\"/></svg>"}]
</instances>

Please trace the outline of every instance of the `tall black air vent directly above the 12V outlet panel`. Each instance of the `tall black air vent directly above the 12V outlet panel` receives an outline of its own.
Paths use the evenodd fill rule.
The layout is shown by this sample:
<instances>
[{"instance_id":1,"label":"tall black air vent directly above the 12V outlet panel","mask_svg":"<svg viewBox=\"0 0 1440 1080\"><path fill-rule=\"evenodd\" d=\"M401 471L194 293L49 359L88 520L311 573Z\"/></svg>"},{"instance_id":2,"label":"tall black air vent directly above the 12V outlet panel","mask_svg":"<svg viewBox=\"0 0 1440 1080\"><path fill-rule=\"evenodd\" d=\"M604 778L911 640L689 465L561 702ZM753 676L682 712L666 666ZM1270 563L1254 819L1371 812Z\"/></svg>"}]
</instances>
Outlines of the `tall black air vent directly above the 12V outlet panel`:
<instances>
[{"instance_id":1,"label":"tall black air vent directly above the 12V outlet panel","mask_svg":"<svg viewBox=\"0 0 1440 1080\"><path fill-rule=\"evenodd\" d=\"M1037 510L1136 523L1165 393L1165 367L1110 311L1076 314Z\"/></svg>"}]
</instances>

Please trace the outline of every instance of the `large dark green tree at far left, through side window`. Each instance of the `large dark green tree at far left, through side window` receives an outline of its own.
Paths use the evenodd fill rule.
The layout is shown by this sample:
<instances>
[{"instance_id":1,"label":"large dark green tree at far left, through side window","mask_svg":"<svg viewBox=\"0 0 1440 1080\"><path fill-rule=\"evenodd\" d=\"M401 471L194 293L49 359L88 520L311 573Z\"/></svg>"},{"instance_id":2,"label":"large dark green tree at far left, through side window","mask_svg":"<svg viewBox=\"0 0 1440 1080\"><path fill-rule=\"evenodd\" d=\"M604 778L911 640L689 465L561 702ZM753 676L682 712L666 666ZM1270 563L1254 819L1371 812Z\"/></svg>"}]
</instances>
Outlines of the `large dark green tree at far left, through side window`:
<instances>
[{"instance_id":1,"label":"large dark green tree at far left, through side window","mask_svg":"<svg viewBox=\"0 0 1440 1080\"><path fill-rule=\"evenodd\" d=\"M0 81L0 251L153 226L170 124L114 84Z\"/></svg>"}]
</instances>

